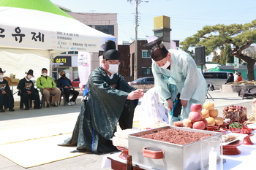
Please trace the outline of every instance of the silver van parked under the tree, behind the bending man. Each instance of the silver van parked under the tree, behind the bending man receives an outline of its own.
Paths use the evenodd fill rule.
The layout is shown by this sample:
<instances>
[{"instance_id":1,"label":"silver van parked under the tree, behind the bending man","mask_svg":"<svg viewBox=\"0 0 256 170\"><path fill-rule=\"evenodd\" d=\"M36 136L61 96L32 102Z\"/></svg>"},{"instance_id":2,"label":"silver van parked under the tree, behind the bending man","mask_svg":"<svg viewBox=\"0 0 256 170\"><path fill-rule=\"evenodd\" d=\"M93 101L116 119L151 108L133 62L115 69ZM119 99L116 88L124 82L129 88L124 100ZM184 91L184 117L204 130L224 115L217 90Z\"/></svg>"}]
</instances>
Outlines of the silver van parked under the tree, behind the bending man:
<instances>
[{"instance_id":1,"label":"silver van parked under the tree, behind the bending man","mask_svg":"<svg viewBox=\"0 0 256 170\"><path fill-rule=\"evenodd\" d=\"M203 77L205 77L208 87L213 85L214 89L222 88L222 85L225 85L229 74L232 72L203 72Z\"/></svg>"}]
</instances>

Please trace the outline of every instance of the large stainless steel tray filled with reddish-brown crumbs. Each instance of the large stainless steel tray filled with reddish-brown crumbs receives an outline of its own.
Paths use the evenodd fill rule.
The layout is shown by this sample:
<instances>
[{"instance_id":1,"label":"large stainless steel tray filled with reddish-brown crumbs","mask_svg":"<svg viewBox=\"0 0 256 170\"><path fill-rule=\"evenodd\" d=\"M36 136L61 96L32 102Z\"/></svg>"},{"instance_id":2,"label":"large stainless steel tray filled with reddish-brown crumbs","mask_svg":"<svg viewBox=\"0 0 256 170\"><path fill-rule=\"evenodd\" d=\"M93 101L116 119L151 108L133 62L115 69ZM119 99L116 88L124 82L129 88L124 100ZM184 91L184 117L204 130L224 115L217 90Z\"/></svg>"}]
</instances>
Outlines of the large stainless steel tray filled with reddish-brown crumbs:
<instances>
[{"instance_id":1,"label":"large stainless steel tray filled with reddish-brown crumbs","mask_svg":"<svg viewBox=\"0 0 256 170\"><path fill-rule=\"evenodd\" d=\"M140 166L142 169L159 170L196 170L200 169L200 141L186 145L171 144L152 139L138 137L143 134L151 134L154 131L161 131L166 128L176 128L182 131L194 131L204 134L214 134L212 137L222 138L222 134L214 131L202 131L192 128L179 128L174 126L165 126L148 131L141 131L128 136L129 155L132 155L132 163ZM143 148L149 150L163 150L163 158L155 159L143 156Z\"/></svg>"}]
</instances>

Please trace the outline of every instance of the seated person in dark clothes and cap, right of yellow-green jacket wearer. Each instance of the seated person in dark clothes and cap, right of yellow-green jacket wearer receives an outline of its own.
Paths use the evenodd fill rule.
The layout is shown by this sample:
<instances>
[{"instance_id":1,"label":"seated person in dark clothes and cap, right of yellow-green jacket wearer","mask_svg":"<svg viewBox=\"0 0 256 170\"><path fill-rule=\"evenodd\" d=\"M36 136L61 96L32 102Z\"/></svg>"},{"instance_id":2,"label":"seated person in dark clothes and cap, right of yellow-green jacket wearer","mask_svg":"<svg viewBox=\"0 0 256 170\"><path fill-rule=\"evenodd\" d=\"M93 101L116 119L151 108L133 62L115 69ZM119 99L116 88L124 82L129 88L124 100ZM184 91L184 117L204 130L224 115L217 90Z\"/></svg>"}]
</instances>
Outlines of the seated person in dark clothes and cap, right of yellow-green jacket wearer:
<instances>
[{"instance_id":1,"label":"seated person in dark clothes and cap, right of yellow-green jacket wearer","mask_svg":"<svg viewBox=\"0 0 256 170\"><path fill-rule=\"evenodd\" d=\"M79 92L76 90L72 90L72 83L71 81L66 77L66 72L64 72L64 70L62 70L59 75L61 76L58 79L57 82L57 87L58 88L63 88L64 89L64 94L66 96L66 102L67 105L74 105L75 104L75 100L78 98ZM73 94L72 98L69 101L69 95Z\"/></svg>"}]
</instances>

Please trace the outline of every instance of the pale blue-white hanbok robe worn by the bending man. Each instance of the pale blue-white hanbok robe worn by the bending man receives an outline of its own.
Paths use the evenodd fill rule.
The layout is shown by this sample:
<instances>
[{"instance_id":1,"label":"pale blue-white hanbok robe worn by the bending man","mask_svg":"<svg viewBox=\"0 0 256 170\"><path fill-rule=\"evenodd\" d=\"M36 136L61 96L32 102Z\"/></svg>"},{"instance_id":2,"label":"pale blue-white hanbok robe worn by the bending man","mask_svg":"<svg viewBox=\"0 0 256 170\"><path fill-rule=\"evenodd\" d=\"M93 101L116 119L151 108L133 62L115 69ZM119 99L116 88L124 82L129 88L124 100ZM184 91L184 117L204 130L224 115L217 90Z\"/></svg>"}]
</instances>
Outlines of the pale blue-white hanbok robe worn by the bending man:
<instances>
[{"instance_id":1,"label":"pale blue-white hanbok robe worn by the bending man","mask_svg":"<svg viewBox=\"0 0 256 170\"><path fill-rule=\"evenodd\" d=\"M170 70L162 69L154 61L152 72L155 79L160 102L167 98L174 101L178 93L181 100L187 100L187 107L183 108L182 118L189 116L191 104L204 104L206 101L207 84L203 75L198 71L194 59L184 51L168 50L171 54ZM175 90L170 90L169 85L176 85Z\"/></svg>"}]
</instances>

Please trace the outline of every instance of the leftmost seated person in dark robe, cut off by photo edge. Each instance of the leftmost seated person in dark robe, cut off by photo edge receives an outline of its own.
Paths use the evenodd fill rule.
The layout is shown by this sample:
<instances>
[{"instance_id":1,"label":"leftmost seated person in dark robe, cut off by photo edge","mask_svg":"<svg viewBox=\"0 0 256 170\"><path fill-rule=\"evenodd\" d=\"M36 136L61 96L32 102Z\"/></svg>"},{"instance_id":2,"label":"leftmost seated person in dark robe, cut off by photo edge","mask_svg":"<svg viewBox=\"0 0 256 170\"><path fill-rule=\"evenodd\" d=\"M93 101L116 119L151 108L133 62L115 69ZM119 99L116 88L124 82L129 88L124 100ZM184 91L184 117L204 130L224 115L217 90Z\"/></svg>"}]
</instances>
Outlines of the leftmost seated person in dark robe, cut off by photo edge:
<instances>
[{"instance_id":1,"label":"leftmost seated person in dark robe, cut off by photo edge","mask_svg":"<svg viewBox=\"0 0 256 170\"><path fill-rule=\"evenodd\" d=\"M12 96L12 92L10 90L9 84L7 80L4 80L4 73L0 68L0 112L5 112L3 109L4 105L9 107L9 111L15 111L14 107L14 99Z\"/></svg>"}]
</instances>

